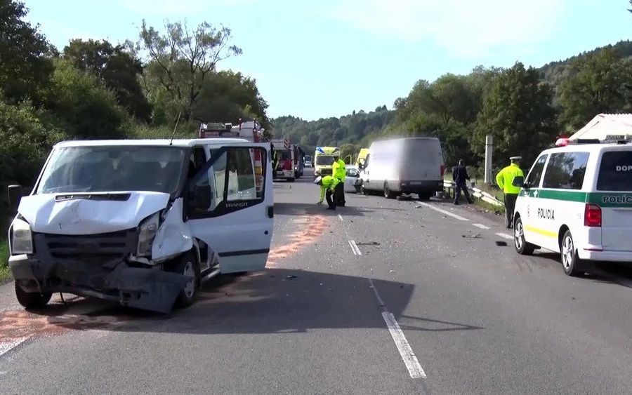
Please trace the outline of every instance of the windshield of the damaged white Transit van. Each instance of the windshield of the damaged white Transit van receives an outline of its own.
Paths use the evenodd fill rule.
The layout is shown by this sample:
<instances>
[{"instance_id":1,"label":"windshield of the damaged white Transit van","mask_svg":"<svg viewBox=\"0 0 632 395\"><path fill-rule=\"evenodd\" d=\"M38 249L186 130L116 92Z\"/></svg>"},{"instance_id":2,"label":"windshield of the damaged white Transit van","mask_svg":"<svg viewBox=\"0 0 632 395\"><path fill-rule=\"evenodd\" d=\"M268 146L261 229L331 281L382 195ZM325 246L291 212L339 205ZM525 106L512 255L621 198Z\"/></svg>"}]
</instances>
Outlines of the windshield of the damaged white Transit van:
<instances>
[{"instance_id":1,"label":"windshield of the damaged white Transit van","mask_svg":"<svg viewBox=\"0 0 632 395\"><path fill-rule=\"evenodd\" d=\"M151 191L173 197L185 159L182 147L56 148L36 193Z\"/></svg>"}]
</instances>

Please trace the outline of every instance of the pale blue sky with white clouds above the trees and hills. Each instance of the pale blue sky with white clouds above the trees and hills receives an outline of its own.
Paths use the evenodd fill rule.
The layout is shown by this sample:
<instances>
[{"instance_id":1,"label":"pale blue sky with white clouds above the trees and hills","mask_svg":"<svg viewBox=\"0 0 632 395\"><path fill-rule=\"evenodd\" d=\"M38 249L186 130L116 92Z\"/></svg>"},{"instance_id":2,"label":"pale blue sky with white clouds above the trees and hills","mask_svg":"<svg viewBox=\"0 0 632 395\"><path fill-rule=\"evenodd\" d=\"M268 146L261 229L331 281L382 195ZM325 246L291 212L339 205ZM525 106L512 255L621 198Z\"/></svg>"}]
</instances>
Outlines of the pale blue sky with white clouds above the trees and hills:
<instances>
[{"instance_id":1,"label":"pale blue sky with white clouds above the trees and hills","mask_svg":"<svg viewBox=\"0 0 632 395\"><path fill-rule=\"evenodd\" d=\"M22 0L60 51L138 39L143 19L224 25L268 116L312 120L393 107L419 79L477 65L540 67L631 39L628 0Z\"/></svg>"}]
</instances>

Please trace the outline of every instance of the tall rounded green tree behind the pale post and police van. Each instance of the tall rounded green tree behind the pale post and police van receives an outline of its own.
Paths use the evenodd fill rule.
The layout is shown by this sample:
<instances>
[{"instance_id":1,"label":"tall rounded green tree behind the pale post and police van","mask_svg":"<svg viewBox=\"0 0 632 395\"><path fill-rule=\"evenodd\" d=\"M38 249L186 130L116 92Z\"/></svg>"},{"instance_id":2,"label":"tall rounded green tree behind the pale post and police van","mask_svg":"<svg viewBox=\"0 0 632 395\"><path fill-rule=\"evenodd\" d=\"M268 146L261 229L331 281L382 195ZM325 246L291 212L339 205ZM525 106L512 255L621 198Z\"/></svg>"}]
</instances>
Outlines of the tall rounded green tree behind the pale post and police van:
<instances>
[{"instance_id":1,"label":"tall rounded green tree behind the pale post and police van","mask_svg":"<svg viewBox=\"0 0 632 395\"><path fill-rule=\"evenodd\" d=\"M525 69L516 62L497 76L485 95L475 124L472 149L485 150L485 135L494 136L494 163L508 161L506 156L521 155L529 163L556 135L556 113L551 105L553 92L539 81L533 67Z\"/></svg>"}]
</instances>

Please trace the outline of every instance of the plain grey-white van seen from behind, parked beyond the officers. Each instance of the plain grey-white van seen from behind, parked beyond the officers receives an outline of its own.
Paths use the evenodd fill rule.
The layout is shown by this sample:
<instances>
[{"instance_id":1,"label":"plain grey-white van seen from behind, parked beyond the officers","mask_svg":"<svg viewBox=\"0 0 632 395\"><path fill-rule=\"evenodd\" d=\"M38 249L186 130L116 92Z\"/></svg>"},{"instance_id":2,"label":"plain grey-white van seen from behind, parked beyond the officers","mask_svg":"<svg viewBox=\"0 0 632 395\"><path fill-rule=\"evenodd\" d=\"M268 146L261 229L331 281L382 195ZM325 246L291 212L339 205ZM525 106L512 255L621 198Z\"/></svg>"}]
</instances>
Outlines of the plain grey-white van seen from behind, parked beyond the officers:
<instances>
[{"instance_id":1,"label":"plain grey-white van seen from behind, parked beyond the officers","mask_svg":"<svg viewBox=\"0 0 632 395\"><path fill-rule=\"evenodd\" d=\"M382 192L388 199L418 194L430 199L443 190L445 164L437 138L397 138L373 142L360 178L362 192Z\"/></svg>"}]
</instances>

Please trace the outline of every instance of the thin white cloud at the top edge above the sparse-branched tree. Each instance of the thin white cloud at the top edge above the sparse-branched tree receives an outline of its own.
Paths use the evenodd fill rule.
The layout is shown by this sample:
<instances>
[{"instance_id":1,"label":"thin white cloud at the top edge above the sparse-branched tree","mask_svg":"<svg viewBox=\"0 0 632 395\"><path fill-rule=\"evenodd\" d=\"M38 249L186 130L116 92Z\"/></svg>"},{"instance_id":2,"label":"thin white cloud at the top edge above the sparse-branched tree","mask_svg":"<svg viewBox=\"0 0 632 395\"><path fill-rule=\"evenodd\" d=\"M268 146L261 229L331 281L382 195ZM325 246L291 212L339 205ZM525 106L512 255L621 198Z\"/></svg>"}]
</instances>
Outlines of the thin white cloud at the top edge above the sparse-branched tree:
<instances>
[{"instance_id":1,"label":"thin white cloud at the top edge above the sparse-branched tree","mask_svg":"<svg viewBox=\"0 0 632 395\"><path fill-rule=\"evenodd\" d=\"M246 6L258 0L121 0L121 5L140 15L191 15L216 6Z\"/></svg>"}]
</instances>

